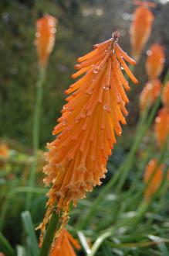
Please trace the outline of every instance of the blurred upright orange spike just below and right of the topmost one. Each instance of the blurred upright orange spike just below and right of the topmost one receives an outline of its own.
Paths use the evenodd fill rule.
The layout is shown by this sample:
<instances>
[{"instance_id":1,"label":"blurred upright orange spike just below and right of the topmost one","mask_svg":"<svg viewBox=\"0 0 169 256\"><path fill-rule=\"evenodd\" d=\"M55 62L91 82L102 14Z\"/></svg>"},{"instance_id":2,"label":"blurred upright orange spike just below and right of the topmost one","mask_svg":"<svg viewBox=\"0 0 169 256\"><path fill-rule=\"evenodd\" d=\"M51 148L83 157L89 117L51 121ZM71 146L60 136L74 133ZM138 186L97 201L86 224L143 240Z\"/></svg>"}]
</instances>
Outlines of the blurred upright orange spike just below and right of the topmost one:
<instances>
[{"instance_id":1,"label":"blurred upright orange spike just below and right of the topmost one","mask_svg":"<svg viewBox=\"0 0 169 256\"><path fill-rule=\"evenodd\" d=\"M161 75L164 62L164 47L161 47L159 43L154 43L150 50L147 50L146 70L150 80L154 80Z\"/></svg>"}]
</instances>

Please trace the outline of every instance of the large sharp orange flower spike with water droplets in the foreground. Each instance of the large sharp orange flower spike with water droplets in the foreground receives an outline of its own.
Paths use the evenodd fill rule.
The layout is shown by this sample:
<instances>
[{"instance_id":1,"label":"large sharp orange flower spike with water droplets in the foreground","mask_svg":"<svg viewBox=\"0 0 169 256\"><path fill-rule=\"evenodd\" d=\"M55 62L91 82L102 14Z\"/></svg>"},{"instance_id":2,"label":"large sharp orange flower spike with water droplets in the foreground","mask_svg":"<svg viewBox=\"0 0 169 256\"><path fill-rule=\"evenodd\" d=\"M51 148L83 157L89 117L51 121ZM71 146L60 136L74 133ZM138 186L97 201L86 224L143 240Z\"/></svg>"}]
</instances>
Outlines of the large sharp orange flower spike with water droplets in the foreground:
<instances>
[{"instance_id":1,"label":"large sharp orange flower spike with water droplets in the foreground","mask_svg":"<svg viewBox=\"0 0 169 256\"><path fill-rule=\"evenodd\" d=\"M70 85L59 124L54 128L56 140L48 144L48 162L44 168L45 183L52 183L42 232L48 223L52 206L57 211L69 211L69 203L76 204L86 197L87 191L100 185L105 177L106 161L116 144L115 134L122 133L120 123L126 124L125 105L129 102L125 89L130 89L121 68L134 83L137 79L125 61L135 64L117 44L118 33L95 49L79 57L72 78L84 74ZM124 116L123 116L124 115Z\"/></svg>"}]
</instances>

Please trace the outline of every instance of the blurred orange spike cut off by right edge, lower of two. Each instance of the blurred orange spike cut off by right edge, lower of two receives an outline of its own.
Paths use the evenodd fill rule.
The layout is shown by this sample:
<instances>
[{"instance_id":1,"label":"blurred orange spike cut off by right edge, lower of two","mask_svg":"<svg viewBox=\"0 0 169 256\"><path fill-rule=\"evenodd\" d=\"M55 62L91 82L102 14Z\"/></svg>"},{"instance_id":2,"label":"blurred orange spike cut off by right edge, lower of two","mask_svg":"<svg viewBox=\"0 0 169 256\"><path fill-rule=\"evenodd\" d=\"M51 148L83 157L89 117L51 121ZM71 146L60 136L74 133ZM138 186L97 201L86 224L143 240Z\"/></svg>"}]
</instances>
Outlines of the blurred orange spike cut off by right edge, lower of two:
<instances>
[{"instance_id":1,"label":"blurred orange spike cut off by right edge, lower of two","mask_svg":"<svg viewBox=\"0 0 169 256\"><path fill-rule=\"evenodd\" d=\"M162 108L155 119L155 137L157 145L162 147L169 134L169 109Z\"/></svg>"}]
</instances>

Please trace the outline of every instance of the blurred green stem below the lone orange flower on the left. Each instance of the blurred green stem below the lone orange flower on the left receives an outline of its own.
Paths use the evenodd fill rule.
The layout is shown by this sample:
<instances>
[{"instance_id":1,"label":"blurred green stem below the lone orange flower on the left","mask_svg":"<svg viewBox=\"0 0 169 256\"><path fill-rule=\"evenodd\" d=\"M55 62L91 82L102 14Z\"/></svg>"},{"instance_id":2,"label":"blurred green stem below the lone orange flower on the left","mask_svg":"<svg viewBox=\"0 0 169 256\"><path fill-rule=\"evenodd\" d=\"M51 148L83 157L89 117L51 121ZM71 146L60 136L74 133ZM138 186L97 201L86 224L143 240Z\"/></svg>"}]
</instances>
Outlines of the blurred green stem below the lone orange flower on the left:
<instances>
[{"instance_id":1,"label":"blurred green stem below the lone orange flower on the left","mask_svg":"<svg viewBox=\"0 0 169 256\"><path fill-rule=\"evenodd\" d=\"M32 163L29 175L29 187L33 187L35 185L35 170L37 168L37 150L39 149L39 123L40 123L40 116L41 116L41 109L42 109L42 92L43 92L43 84L46 78L46 66L39 67L39 80L36 84L36 99L35 99L35 111L33 116L33 130L32 130L32 143L33 143L33 154L35 160ZM26 209L30 208L32 200L32 193L28 193L26 199Z\"/></svg>"}]
</instances>

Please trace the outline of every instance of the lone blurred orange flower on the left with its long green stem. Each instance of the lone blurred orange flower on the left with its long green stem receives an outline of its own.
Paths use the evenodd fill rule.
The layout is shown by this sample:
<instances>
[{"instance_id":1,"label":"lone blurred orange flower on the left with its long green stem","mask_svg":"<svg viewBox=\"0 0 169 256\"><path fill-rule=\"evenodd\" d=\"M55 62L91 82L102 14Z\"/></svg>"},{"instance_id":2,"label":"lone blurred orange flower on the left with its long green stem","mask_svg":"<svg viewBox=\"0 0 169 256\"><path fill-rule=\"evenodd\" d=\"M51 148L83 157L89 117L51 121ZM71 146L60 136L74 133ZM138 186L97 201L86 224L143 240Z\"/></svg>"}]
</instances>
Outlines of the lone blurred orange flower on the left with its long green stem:
<instances>
[{"instance_id":1,"label":"lone blurred orange flower on the left with its long green stem","mask_svg":"<svg viewBox=\"0 0 169 256\"><path fill-rule=\"evenodd\" d=\"M36 21L35 46L39 60L39 80L36 84L36 99L35 110L33 114L33 130L32 143L33 154L35 160L32 163L29 176L29 186L33 187L35 184L35 170L37 168L37 150L39 149L39 123L42 109L42 93L43 85L46 78L46 67L48 65L49 55L52 52L56 39L56 22L57 19L53 16L43 16ZM29 209L31 205L32 194L28 194L26 200L26 208Z\"/></svg>"}]
</instances>

